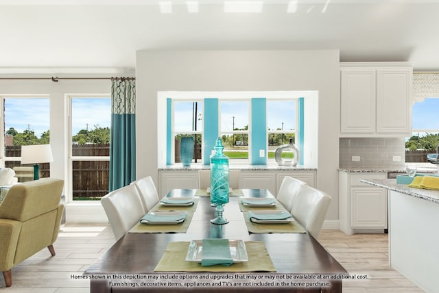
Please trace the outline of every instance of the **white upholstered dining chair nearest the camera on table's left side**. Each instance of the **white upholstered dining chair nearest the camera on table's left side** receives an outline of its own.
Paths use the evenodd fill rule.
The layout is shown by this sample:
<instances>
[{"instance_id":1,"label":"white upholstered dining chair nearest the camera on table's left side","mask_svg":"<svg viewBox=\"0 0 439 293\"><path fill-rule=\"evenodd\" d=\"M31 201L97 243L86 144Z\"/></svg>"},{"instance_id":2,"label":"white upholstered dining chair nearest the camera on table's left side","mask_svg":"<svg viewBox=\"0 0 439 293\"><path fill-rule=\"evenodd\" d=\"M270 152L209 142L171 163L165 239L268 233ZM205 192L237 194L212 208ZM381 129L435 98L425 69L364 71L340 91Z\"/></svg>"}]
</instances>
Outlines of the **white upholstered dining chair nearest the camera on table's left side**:
<instances>
[{"instance_id":1,"label":"white upholstered dining chair nearest the camera on table's left side","mask_svg":"<svg viewBox=\"0 0 439 293\"><path fill-rule=\"evenodd\" d=\"M145 209L137 187L125 186L114 190L101 199L112 233L119 240L145 216Z\"/></svg>"}]
</instances>

